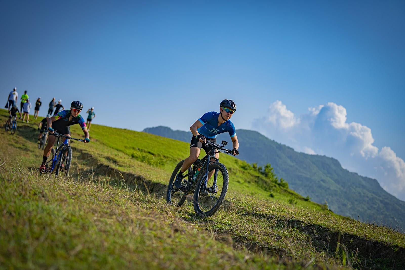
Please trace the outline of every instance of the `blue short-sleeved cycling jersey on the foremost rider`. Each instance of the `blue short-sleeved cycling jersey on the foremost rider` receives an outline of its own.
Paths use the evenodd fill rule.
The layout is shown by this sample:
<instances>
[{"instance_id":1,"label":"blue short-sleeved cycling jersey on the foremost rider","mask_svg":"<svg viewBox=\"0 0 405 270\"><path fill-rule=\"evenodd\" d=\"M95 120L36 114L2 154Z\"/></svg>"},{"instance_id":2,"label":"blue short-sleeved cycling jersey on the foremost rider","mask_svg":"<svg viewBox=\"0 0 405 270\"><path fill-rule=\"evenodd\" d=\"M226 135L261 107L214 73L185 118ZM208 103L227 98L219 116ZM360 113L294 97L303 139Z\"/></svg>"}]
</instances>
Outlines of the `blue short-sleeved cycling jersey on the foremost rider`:
<instances>
[{"instance_id":1,"label":"blue short-sleeved cycling jersey on the foremost rider","mask_svg":"<svg viewBox=\"0 0 405 270\"><path fill-rule=\"evenodd\" d=\"M224 123L218 126L218 117L220 113L208 112L205 113L200 119L198 119L203 126L198 128L198 133L204 135L205 138L216 138L217 134L229 132L231 137L236 135L235 126L230 120L226 120Z\"/></svg>"}]
</instances>

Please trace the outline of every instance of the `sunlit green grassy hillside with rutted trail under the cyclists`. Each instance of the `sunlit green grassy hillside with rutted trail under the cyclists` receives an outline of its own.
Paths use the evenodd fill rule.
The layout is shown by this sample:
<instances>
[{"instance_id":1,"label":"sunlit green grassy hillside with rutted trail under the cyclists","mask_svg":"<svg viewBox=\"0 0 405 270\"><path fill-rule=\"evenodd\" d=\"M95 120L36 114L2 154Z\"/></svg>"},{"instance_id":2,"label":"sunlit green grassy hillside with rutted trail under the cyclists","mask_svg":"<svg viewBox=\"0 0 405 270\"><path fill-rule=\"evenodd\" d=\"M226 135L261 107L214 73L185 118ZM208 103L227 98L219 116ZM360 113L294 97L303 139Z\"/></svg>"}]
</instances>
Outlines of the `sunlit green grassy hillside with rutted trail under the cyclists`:
<instances>
[{"instance_id":1,"label":"sunlit green grassy hillside with rutted trail under the cyclists","mask_svg":"<svg viewBox=\"0 0 405 270\"><path fill-rule=\"evenodd\" d=\"M6 113L0 111L0 121ZM395 268L405 235L336 215L220 157L230 185L223 207L200 219L162 195L188 144L92 125L72 143L72 177L39 175L39 121L0 131L0 265L7 268ZM77 126L72 136L79 137Z\"/></svg>"}]
</instances>

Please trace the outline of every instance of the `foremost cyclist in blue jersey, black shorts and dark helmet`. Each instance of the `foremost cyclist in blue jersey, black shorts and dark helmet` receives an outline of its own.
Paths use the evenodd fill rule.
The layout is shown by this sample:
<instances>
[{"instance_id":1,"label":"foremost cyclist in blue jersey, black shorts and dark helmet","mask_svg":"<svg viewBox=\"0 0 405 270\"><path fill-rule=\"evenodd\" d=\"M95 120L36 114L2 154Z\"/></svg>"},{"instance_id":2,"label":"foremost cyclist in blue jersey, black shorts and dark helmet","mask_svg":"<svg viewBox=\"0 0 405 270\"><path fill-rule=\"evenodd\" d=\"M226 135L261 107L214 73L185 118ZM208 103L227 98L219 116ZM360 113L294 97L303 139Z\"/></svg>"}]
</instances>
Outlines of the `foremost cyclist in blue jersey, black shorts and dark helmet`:
<instances>
[{"instance_id":1,"label":"foremost cyclist in blue jersey, black shorts and dark helmet","mask_svg":"<svg viewBox=\"0 0 405 270\"><path fill-rule=\"evenodd\" d=\"M183 179L183 172L185 172L200 155L201 148L205 150L205 153L213 150L210 146L205 146L207 140L212 143L217 143L217 134L228 132L232 140L233 155L239 155L239 142L236 136L235 127L230 121L233 113L236 111L236 104L233 100L222 100L220 104L220 113L208 112L205 113L200 119L198 119L191 127L190 131L193 136L190 143L190 156L183 162L183 166L179 174L176 176L175 187L181 187L181 180ZM215 153L215 158L218 160L219 153ZM211 160L211 162L217 162L217 160ZM214 171L210 172L212 174ZM209 175L208 179L211 177ZM205 190L206 187L203 187Z\"/></svg>"}]
</instances>

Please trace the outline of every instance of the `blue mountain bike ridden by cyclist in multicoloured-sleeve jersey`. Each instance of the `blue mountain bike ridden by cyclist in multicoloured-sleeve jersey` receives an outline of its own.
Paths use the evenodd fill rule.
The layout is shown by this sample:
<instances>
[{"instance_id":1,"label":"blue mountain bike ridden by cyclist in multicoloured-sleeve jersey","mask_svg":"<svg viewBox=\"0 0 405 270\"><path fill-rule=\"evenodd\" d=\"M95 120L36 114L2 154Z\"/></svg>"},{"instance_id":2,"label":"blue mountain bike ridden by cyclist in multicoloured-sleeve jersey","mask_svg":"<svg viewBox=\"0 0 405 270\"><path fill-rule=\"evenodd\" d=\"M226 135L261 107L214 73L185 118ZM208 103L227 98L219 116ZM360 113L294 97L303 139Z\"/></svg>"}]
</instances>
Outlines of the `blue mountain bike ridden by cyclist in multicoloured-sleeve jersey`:
<instances>
[{"instance_id":1,"label":"blue mountain bike ridden by cyclist in multicoloured-sleeve jersey","mask_svg":"<svg viewBox=\"0 0 405 270\"><path fill-rule=\"evenodd\" d=\"M45 163L45 171L53 172L55 170L56 176L59 176L59 173L63 174L63 176L68 176L70 163L72 162L72 149L70 148L69 140L77 140L79 142L83 142L84 140L65 136L58 132L49 133L49 135L57 137L58 142L56 143L56 150L54 148L51 150L52 159ZM61 146L59 146L60 138L66 138Z\"/></svg>"}]
</instances>

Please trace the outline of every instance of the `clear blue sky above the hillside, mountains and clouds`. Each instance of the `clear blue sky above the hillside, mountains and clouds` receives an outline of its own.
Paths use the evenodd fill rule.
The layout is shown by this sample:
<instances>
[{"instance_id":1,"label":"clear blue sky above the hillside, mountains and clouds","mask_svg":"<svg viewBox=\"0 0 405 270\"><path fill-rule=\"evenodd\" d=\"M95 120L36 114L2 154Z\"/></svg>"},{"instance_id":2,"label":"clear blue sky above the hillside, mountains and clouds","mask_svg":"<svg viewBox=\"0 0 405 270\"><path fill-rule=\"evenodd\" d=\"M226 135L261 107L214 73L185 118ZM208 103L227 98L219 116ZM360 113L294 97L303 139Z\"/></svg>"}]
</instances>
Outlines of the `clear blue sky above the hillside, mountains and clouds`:
<instances>
[{"instance_id":1,"label":"clear blue sky above the hillside, mountains and clouds","mask_svg":"<svg viewBox=\"0 0 405 270\"><path fill-rule=\"evenodd\" d=\"M188 130L224 98L255 129L333 102L405 157L405 2L33 2L0 9L0 89L94 106L94 123Z\"/></svg>"}]
</instances>

